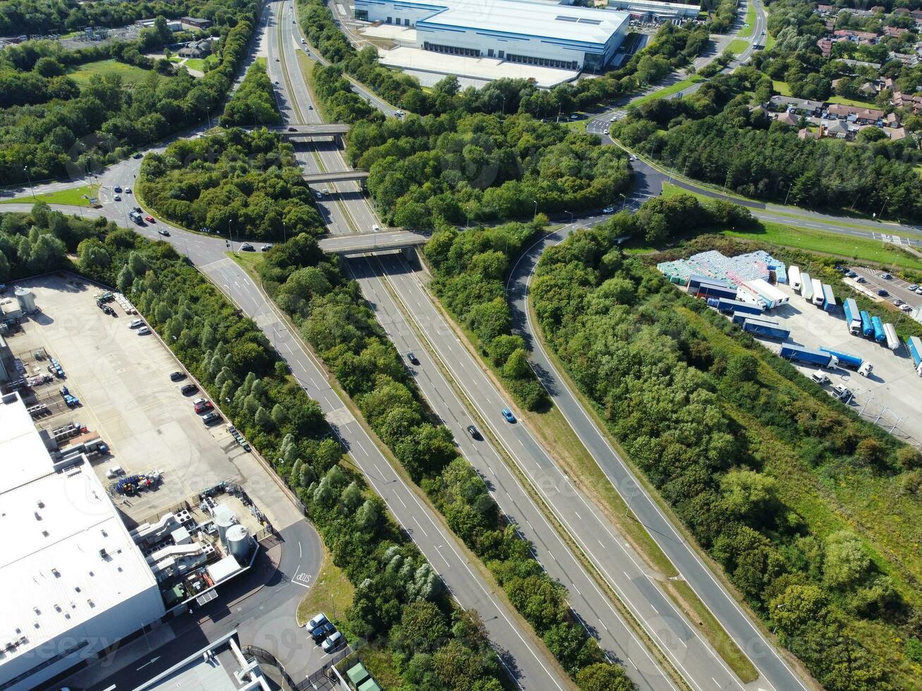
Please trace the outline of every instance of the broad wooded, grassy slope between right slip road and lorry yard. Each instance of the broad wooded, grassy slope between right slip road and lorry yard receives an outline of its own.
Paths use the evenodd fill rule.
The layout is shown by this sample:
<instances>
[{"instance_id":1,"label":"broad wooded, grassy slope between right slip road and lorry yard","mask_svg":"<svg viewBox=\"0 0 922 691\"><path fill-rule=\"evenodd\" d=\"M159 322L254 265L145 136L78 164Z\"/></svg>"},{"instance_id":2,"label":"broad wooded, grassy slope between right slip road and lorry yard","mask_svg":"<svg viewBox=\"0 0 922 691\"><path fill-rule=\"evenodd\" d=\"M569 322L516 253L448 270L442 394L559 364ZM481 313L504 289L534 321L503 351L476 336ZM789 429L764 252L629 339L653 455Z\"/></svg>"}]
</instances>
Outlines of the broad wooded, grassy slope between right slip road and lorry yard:
<instances>
[{"instance_id":1,"label":"broad wooded, grassy slope between right slip road and lorry yard","mask_svg":"<svg viewBox=\"0 0 922 691\"><path fill-rule=\"evenodd\" d=\"M632 463L823 687L906 687L918 646L892 641L922 632L917 573L880 531L849 527L847 502L840 508L824 482L899 487L922 457L623 255L616 239L647 222L644 208L619 214L544 253L531 293L551 347ZM703 242L650 263L714 246Z\"/></svg>"}]
</instances>

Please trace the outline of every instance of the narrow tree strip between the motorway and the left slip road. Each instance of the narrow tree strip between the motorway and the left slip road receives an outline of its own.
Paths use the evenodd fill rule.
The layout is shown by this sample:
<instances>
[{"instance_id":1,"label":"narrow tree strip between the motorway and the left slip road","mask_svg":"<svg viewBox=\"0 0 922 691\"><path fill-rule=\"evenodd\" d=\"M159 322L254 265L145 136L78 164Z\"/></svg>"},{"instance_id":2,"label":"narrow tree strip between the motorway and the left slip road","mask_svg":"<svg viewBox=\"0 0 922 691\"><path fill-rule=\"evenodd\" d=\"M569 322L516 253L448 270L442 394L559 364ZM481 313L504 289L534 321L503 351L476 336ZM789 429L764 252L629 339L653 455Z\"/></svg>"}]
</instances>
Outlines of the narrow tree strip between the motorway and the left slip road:
<instances>
[{"instance_id":1,"label":"narrow tree strip between the motorway and the left slip road","mask_svg":"<svg viewBox=\"0 0 922 691\"><path fill-rule=\"evenodd\" d=\"M605 662L596 639L574 620L566 589L533 558L479 474L458 454L451 432L423 403L358 284L306 235L274 247L258 270L270 297L291 315L378 437L577 684L631 689L623 668ZM594 685L603 682L609 685Z\"/></svg>"}]
</instances>

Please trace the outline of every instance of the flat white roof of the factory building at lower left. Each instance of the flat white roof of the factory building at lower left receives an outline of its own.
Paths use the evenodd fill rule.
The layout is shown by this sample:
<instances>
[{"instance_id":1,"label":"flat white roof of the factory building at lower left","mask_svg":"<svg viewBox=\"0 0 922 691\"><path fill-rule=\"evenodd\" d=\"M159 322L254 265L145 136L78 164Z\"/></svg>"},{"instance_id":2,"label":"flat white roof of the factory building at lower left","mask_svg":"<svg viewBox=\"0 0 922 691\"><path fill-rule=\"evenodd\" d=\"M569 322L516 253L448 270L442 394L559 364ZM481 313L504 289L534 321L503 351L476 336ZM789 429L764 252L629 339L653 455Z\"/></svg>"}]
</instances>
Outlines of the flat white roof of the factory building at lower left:
<instances>
[{"instance_id":1,"label":"flat white roof of the factory building at lower left","mask_svg":"<svg viewBox=\"0 0 922 691\"><path fill-rule=\"evenodd\" d=\"M13 394L0 398L0 459L0 647L19 641L6 655L156 584L89 464L55 473Z\"/></svg>"}]
</instances>

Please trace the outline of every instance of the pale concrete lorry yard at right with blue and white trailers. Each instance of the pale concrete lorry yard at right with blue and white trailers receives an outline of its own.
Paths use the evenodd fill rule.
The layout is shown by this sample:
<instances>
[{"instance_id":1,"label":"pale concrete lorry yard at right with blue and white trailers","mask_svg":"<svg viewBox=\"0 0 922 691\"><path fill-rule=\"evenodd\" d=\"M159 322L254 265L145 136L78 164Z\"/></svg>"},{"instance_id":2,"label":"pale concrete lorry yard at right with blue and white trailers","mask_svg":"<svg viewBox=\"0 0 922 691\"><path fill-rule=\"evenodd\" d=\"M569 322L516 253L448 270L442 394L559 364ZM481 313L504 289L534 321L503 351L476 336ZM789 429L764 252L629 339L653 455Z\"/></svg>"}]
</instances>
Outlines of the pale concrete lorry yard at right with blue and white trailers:
<instances>
[{"instance_id":1,"label":"pale concrete lorry yard at right with blue and white trailers","mask_svg":"<svg viewBox=\"0 0 922 691\"><path fill-rule=\"evenodd\" d=\"M795 293L790 286L779 284L779 290L791 296L786 305L768 312L766 316L777 319L791 335L786 344L818 348L824 345L850 355L861 357L873 364L869 377L862 377L852 369L839 367L823 370L831 383L824 388L831 391L841 384L854 392L848 405L856 413L876 422L892 433L916 445L922 444L922 416L918 415L922 402L922 377L916 375L912 357L901 345L896 351L875 343L870 338L853 336L845 326L841 308L830 314L816 307ZM885 320L886 321L886 320ZM778 341L760 339L762 344L777 353L781 349ZM804 375L820 371L818 368L795 363Z\"/></svg>"}]
</instances>

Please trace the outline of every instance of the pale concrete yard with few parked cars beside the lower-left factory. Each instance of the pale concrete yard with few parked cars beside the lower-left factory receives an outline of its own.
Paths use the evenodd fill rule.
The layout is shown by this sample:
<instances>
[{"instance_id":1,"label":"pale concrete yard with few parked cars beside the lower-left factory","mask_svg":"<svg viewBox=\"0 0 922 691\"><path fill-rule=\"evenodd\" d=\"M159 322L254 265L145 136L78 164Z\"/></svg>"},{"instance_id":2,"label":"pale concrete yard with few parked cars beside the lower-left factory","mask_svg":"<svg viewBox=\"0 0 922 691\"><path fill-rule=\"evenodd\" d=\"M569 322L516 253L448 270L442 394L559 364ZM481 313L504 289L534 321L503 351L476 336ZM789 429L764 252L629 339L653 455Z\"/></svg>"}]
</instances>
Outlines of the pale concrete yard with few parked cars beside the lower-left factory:
<instances>
[{"instance_id":1,"label":"pale concrete yard with few parked cars beside the lower-left factory","mask_svg":"<svg viewBox=\"0 0 922 691\"><path fill-rule=\"evenodd\" d=\"M100 310L94 295L101 292L74 275L41 276L17 285L32 288L41 313L8 338L13 352L29 373L46 371L48 360L35 357L45 351L56 357L65 379L54 379L35 389L50 414L36 419L45 429L77 422L98 432L111 453L93 465L106 486L106 471L121 467L124 474L159 470L162 483L134 497L112 493L116 505L131 521L145 521L193 498L201 490L230 481L241 484L270 521L278 527L296 517L293 507L275 486L252 453L231 438L224 421L207 427L193 409L202 393L183 395L183 384L171 381L183 369L157 334L139 335L129 327L136 315L126 314L115 302L114 314ZM68 408L60 393L66 386L80 404ZM124 476L124 475L123 475Z\"/></svg>"}]
</instances>

